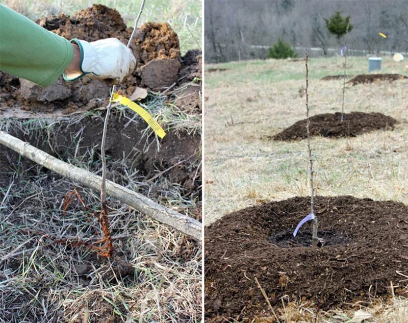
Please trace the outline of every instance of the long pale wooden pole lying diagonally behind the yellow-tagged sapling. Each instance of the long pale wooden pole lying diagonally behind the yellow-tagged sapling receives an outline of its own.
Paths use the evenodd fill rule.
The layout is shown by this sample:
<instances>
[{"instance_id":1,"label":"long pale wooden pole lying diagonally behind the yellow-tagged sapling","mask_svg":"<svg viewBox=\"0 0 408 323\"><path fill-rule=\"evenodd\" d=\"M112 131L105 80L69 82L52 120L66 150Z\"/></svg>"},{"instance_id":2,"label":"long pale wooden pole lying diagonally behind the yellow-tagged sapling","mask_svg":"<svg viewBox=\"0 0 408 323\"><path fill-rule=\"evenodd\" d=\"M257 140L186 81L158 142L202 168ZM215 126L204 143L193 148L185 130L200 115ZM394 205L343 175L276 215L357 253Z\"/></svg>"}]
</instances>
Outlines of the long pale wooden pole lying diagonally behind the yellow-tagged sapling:
<instances>
[{"instance_id":1,"label":"long pale wooden pole lying diagonally behind the yellow-tagged sapling","mask_svg":"<svg viewBox=\"0 0 408 323\"><path fill-rule=\"evenodd\" d=\"M100 176L96 176L87 170L67 164L62 160L44 153L29 143L5 133L4 131L0 131L0 143L25 158L59 173L63 177L100 191ZM201 223L199 221L161 206L156 202L151 201L149 198L112 181L106 182L106 193L151 218L179 230L197 241L201 241Z\"/></svg>"}]
</instances>

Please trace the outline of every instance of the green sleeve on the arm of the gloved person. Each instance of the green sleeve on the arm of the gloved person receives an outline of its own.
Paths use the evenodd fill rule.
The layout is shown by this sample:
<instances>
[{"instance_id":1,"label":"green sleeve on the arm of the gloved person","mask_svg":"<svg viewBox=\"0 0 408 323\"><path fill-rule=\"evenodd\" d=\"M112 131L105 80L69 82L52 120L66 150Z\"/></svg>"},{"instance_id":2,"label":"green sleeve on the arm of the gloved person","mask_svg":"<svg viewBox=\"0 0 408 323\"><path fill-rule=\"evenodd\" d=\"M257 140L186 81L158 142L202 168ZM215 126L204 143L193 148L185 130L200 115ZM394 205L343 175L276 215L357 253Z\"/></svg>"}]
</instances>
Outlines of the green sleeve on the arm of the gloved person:
<instances>
[{"instance_id":1,"label":"green sleeve on the arm of the gloved person","mask_svg":"<svg viewBox=\"0 0 408 323\"><path fill-rule=\"evenodd\" d=\"M68 40L0 5L0 70L46 87L72 58Z\"/></svg>"}]
</instances>

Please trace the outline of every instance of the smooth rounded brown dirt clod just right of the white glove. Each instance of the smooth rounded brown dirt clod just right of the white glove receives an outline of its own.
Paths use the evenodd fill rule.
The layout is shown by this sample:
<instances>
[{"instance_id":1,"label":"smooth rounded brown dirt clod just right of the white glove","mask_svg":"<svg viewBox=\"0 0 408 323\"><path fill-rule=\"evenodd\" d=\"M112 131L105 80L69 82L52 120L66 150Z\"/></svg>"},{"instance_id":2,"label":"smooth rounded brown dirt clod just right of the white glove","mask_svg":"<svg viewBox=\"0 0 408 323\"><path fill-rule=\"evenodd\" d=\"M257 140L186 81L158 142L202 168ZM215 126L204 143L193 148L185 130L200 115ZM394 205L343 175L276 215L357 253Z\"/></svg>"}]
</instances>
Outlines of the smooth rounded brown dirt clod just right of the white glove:
<instances>
[{"instance_id":1,"label":"smooth rounded brown dirt clod just right of the white glove","mask_svg":"<svg viewBox=\"0 0 408 323\"><path fill-rule=\"evenodd\" d=\"M154 59L142 67L142 83L151 89L170 86L177 81L180 66L177 59Z\"/></svg>"}]
</instances>

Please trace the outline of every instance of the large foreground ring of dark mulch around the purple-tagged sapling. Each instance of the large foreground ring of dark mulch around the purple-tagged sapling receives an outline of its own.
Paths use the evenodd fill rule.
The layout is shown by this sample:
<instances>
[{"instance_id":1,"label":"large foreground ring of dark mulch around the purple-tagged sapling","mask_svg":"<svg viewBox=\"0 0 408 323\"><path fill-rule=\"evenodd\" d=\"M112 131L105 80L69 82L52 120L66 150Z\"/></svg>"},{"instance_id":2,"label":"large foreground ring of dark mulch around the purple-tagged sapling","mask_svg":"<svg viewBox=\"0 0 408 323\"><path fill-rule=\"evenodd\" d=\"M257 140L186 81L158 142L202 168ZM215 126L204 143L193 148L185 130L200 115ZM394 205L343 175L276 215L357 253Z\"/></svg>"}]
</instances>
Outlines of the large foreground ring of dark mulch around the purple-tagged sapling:
<instances>
[{"instance_id":1,"label":"large foreground ring of dark mulch around the purple-tagged sapling","mask_svg":"<svg viewBox=\"0 0 408 323\"><path fill-rule=\"evenodd\" d=\"M311 247L310 197L249 207L206 227L206 321L271 316L285 302L334 306L397 294L408 285L408 206L353 196L316 197L321 247ZM405 275L405 276L403 276Z\"/></svg>"}]
</instances>

